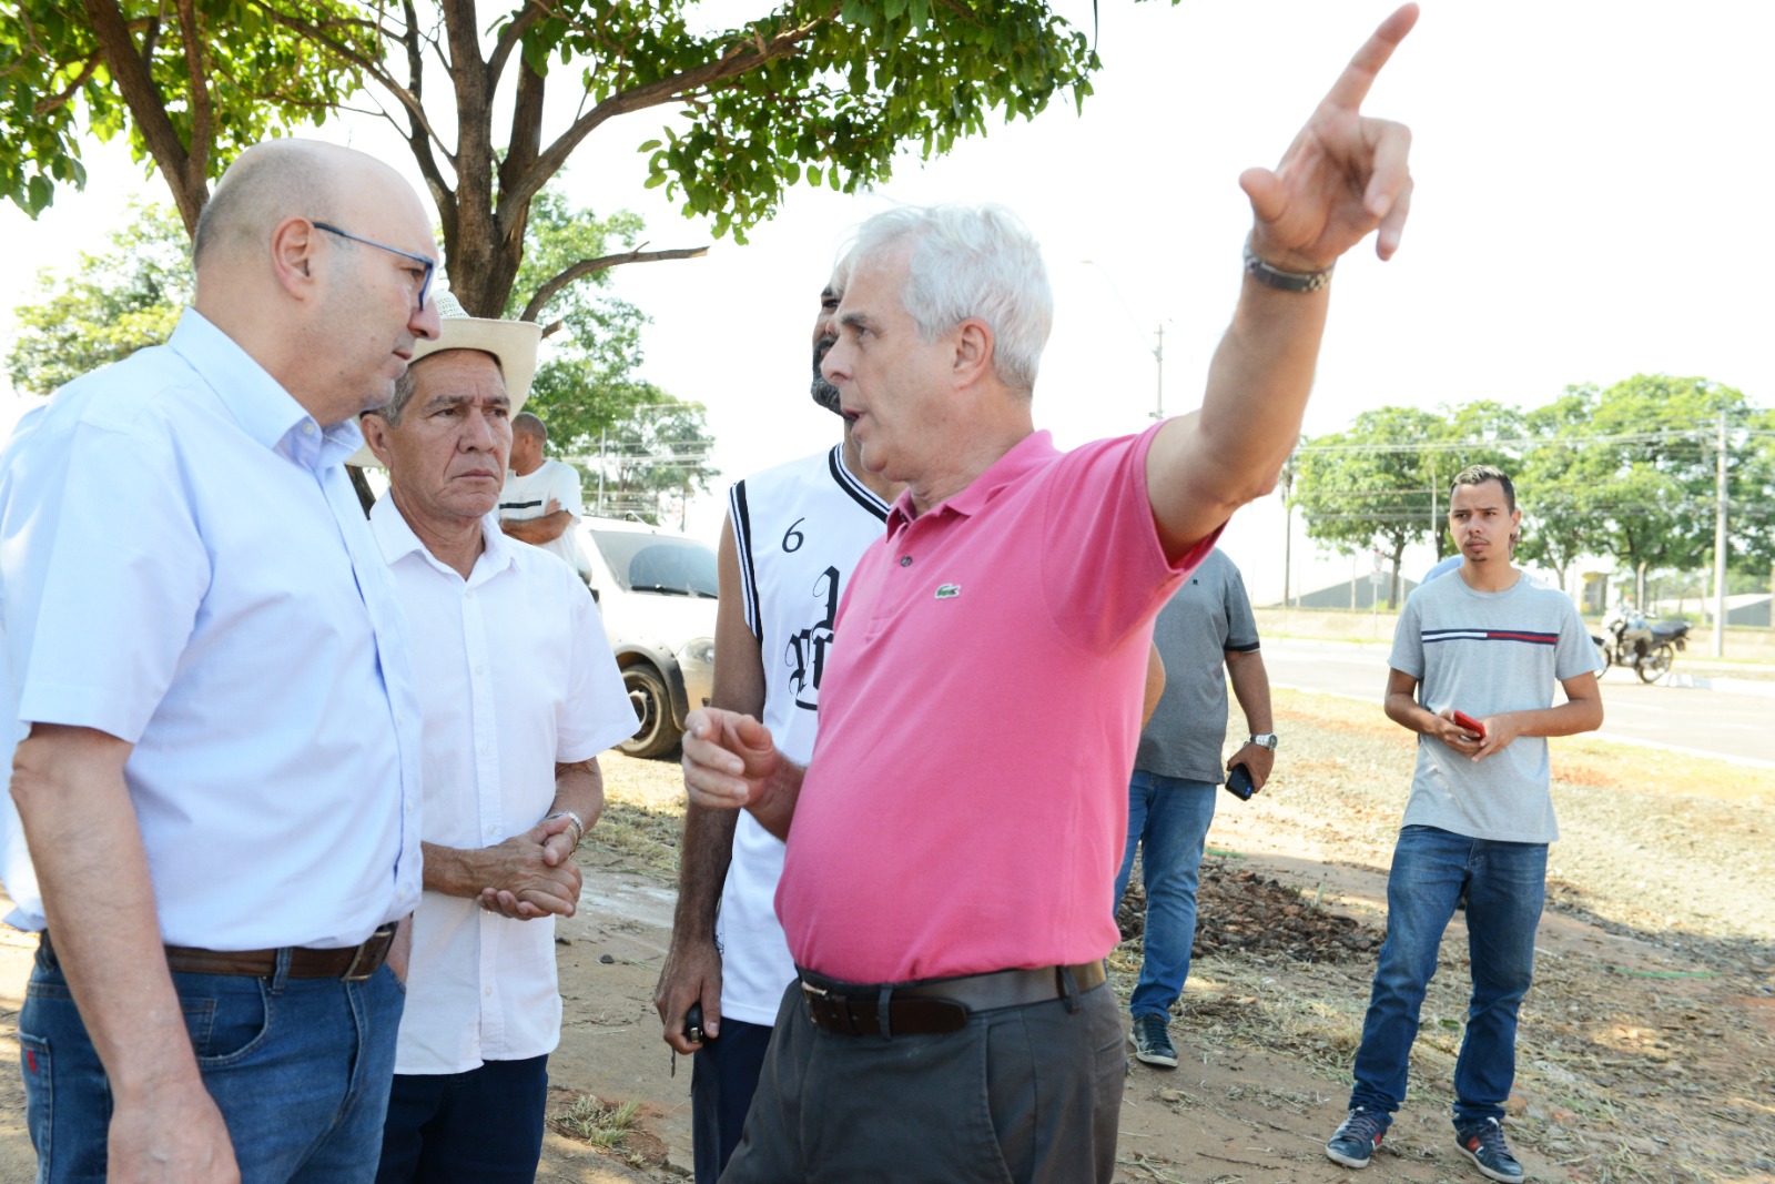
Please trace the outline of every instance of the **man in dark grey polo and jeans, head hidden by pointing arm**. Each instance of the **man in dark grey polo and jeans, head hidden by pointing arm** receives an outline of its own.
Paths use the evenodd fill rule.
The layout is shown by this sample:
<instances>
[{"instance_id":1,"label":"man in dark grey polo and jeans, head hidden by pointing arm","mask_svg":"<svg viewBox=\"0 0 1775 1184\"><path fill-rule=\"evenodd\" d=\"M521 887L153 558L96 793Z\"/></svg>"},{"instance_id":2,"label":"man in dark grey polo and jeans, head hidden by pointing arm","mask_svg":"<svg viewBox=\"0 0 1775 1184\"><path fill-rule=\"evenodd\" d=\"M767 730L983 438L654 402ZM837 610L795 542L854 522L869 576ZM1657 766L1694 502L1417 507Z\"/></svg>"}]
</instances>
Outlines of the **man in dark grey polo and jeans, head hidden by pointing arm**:
<instances>
[{"instance_id":1,"label":"man in dark grey polo and jeans, head hidden by pointing arm","mask_svg":"<svg viewBox=\"0 0 1775 1184\"><path fill-rule=\"evenodd\" d=\"M1172 1005L1189 978L1196 935L1196 872L1214 799L1227 772L1227 678L1251 724L1244 747L1227 770L1244 765L1251 788L1269 777L1276 735L1269 717L1269 676L1257 651L1257 621L1239 568L1216 549L1189 582L1172 595L1152 627L1164 659L1164 696L1140 733L1134 776L1127 786L1127 850L1115 880L1115 904L1127 891L1134 850L1145 850L1147 953L1129 999L1134 1056L1148 1065L1177 1067L1168 1031ZM1221 676L1221 664L1227 676ZM1113 907L1113 905L1111 905Z\"/></svg>"}]
</instances>

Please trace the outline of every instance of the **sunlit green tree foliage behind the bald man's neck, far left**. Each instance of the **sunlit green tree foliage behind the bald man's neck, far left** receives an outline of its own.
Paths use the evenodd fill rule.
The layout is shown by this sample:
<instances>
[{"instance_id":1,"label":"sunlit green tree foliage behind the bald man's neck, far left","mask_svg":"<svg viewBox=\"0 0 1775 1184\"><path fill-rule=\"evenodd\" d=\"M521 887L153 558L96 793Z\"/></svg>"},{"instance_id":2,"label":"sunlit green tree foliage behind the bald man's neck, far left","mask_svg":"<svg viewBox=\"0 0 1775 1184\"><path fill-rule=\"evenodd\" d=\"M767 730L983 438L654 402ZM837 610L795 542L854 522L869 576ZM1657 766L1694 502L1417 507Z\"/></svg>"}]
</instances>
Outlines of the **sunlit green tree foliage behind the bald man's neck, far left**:
<instances>
[{"instance_id":1,"label":"sunlit green tree foliage behind the bald man's neck, far left","mask_svg":"<svg viewBox=\"0 0 1775 1184\"><path fill-rule=\"evenodd\" d=\"M41 304L14 311L18 337L5 367L20 394L66 382L172 335L192 293L190 243L167 206L131 206L103 254L71 273L37 275Z\"/></svg>"}]
</instances>

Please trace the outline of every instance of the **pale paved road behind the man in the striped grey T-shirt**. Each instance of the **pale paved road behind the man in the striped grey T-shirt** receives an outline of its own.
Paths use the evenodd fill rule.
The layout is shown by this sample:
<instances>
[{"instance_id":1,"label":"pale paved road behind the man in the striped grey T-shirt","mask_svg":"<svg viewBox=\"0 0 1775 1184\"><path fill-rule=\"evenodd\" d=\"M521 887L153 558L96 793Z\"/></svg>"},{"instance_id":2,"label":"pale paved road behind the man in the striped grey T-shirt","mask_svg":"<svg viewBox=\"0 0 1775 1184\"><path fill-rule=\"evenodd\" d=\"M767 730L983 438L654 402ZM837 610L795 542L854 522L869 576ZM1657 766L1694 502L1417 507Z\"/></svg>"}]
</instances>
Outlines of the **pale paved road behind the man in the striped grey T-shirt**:
<instances>
[{"instance_id":1,"label":"pale paved road behind the man in the striped grey T-shirt","mask_svg":"<svg viewBox=\"0 0 1775 1184\"><path fill-rule=\"evenodd\" d=\"M1386 687L1386 644L1264 639L1264 666L1273 683L1367 699L1376 712ZM1677 655L1676 669L1681 667ZM1603 703L1605 737L1775 767L1775 698L1647 687L1633 671L1612 669L1603 676Z\"/></svg>"}]
</instances>

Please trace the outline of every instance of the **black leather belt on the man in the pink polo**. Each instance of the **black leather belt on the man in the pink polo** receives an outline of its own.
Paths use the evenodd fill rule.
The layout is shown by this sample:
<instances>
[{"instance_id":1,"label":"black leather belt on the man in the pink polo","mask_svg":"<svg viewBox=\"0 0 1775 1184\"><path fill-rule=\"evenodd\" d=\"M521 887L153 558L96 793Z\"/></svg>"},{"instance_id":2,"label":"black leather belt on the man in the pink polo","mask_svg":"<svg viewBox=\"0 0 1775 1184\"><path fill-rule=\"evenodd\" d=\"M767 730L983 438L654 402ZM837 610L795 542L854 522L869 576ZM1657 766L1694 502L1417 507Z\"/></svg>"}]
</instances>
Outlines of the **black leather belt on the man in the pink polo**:
<instances>
[{"instance_id":1,"label":"black leather belt on the man in the pink polo","mask_svg":"<svg viewBox=\"0 0 1775 1184\"><path fill-rule=\"evenodd\" d=\"M1070 980L1070 982L1069 982ZM852 1037L960 1031L973 1012L1063 999L1100 987L1102 962L994 971L921 983L847 983L801 971L801 994L815 1028Z\"/></svg>"}]
</instances>

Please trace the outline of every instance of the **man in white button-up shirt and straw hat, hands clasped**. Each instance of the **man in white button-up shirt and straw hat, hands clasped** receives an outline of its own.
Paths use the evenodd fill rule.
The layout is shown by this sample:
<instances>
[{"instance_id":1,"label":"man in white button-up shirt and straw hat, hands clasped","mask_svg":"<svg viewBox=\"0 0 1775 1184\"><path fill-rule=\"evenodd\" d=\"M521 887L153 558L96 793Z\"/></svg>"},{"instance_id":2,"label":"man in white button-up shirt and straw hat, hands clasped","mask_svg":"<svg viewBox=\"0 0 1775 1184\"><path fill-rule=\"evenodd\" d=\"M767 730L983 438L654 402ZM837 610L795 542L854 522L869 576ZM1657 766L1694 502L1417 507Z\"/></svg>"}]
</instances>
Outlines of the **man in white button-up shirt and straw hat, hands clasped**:
<instances>
[{"instance_id":1,"label":"man in white button-up shirt and straw hat, hands clasped","mask_svg":"<svg viewBox=\"0 0 1775 1184\"><path fill-rule=\"evenodd\" d=\"M596 756L635 717L586 588L492 513L538 327L442 312L364 415L389 470L371 533L424 637L426 891L376 1180L527 1184L561 1038L554 918L604 809Z\"/></svg>"}]
</instances>

